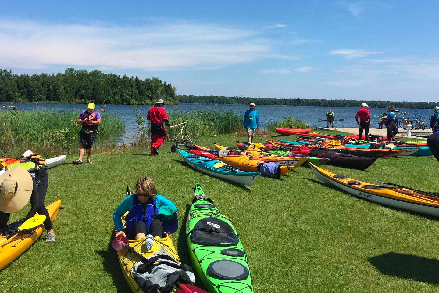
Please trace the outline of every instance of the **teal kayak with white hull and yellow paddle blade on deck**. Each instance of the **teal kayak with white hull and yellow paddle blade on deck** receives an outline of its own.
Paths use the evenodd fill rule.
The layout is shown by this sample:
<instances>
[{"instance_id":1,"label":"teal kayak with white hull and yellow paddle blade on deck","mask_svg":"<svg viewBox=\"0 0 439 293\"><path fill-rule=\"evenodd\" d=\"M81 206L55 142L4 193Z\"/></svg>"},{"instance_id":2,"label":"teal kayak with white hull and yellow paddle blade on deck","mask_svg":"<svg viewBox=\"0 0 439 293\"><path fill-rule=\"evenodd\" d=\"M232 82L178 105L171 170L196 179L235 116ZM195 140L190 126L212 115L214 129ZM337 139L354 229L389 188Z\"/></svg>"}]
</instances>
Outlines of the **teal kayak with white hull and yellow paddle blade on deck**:
<instances>
[{"instance_id":1,"label":"teal kayak with white hull and yellow paddle blade on deck","mask_svg":"<svg viewBox=\"0 0 439 293\"><path fill-rule=\"evenodd\" d=\"M245 172L239 170L234 166L224 164L222 161L216 159L208 159L196 154L184 152L179 148L177 148L177 151L184 161L192 168L227 181L252 185L261 175L259 172Z\"/></svg>"}]
</instances>

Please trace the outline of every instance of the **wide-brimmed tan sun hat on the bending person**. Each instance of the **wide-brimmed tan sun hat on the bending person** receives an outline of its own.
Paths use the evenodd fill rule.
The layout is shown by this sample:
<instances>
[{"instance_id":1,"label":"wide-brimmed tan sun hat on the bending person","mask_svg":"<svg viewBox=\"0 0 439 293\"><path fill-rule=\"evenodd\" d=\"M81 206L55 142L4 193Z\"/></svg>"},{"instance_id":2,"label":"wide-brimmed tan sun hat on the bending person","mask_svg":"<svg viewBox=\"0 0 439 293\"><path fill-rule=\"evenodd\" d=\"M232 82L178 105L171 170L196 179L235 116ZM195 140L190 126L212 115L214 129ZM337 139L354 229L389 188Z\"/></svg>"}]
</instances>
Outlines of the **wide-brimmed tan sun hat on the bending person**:
<instances>
[{"instance_id":1,"label":"wide-brimmed tan sun hat on the bending person","mask_svg":"<svg viewBox=\"0 0 439 293\"><path fill-rule=\"evenodd\" d=\"M32 177L20 166L7 169L0 175L0 211L13 213L21 210L32 194Z\"/></svg>"}]
</instances>

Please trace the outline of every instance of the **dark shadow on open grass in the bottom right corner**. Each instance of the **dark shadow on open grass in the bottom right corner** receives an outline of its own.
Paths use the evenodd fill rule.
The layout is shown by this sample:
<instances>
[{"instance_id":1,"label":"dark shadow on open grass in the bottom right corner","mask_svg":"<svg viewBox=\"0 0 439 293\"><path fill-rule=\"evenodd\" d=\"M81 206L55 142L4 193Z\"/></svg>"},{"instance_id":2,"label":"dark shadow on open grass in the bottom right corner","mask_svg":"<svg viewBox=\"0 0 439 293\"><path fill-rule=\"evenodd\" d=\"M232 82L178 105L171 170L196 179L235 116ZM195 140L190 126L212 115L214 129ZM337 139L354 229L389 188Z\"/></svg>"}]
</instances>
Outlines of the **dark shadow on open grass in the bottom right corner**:
<instances>
[{"instance_id":1,"label":"dark shadow on open grass in the bottom right corner","mask_svg":"<svg viewBox=\"0 0 439 293\"><path fill-rule=\"evenodd\" d=\"M383 275L439 285L439 260L394 252L367 260Z\"/></svg>"}]
</instances>

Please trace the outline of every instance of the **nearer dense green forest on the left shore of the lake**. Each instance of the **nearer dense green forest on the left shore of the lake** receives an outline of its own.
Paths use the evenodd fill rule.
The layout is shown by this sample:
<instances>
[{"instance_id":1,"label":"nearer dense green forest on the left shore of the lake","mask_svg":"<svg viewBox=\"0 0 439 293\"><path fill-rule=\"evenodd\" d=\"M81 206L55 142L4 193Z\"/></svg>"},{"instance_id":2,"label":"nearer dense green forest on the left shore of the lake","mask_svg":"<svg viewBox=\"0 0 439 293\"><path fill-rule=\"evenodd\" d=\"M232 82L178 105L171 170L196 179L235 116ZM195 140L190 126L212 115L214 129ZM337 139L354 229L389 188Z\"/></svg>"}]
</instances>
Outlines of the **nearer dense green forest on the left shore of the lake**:
<instances>
[{"instance_id":1,"label":"nearer dense green forest on the left shore of the lake","mask_svg":"<svg viewBox=\"0 0 439 293\"><path fill-rule=\"evenodd\" d=\"M177 103L175 87L156 77L139 79L99 70L65 69L56 75L16 75L0 69L0 102L60 101L64 103L151 104L157 99Z\"/></svg>"}]
</instances>

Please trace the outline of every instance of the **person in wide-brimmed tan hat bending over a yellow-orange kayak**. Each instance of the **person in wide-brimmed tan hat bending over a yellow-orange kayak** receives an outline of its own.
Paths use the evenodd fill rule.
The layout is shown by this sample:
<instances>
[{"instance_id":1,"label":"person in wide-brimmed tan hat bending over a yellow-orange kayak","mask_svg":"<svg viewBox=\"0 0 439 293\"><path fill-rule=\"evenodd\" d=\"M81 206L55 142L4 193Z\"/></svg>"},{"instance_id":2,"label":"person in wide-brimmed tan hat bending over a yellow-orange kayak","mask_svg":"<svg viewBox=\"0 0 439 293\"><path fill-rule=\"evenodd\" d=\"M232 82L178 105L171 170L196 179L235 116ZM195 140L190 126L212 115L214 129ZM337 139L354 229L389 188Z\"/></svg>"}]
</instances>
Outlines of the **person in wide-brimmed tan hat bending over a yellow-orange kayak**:
<instances>
[{"instance_id":1,"label":"person in wide-brimmed tan hat bending over a yellow-orange kayak","mask_svg":"<svg viewBox=\"0 0 439 293\"><path fill-rule=\"evenodd\" d=\"M29 168L29 166L31 166L31 168ZM23 173L22 170L24 170L25 173ZM11 177L4 176L10 173L13 174ZM21 210L30 199L31 210L27 214L25 220L35 216L35 213L45 215L46 220L43 224L47 230L46 242L55 242L55 232L52 227L52 222L50 221L49 212L44 205L48 183L49 175L47 174L47 171L33 162L20 163L19 166L14 166L8 169L0 177L0 235L7 234L7 222L9 221L10 213ZM25 195L24 199L20 199L19 197L23 194L23 192L20 191L20 188L21 186L26 185L29 187L32 186L32 191L30 192L30 195ZM27 188L25 192L29 191L30 188ZM20 202L18 205L15 203L17 200Z\"/></svg>"}]
</instances>

